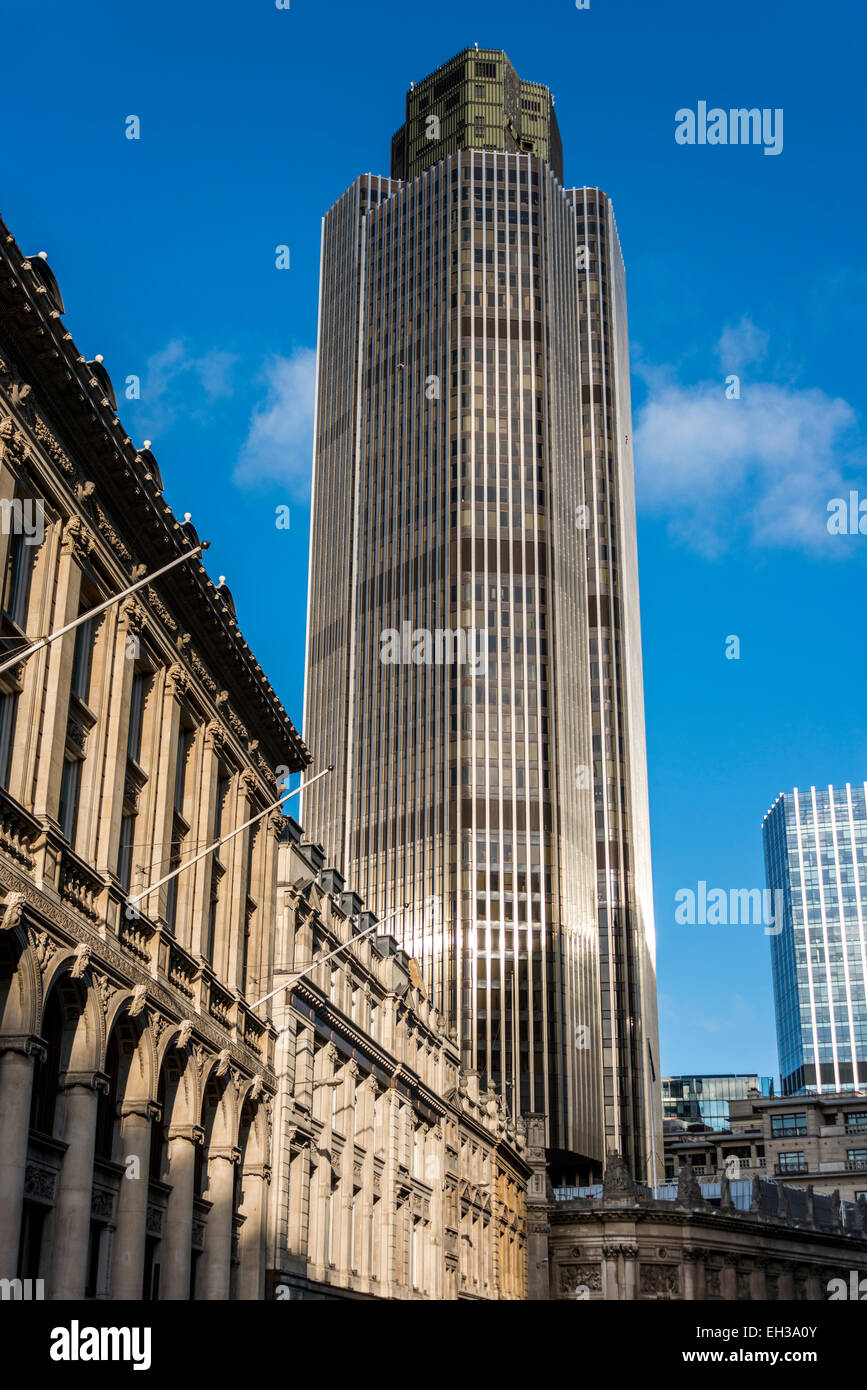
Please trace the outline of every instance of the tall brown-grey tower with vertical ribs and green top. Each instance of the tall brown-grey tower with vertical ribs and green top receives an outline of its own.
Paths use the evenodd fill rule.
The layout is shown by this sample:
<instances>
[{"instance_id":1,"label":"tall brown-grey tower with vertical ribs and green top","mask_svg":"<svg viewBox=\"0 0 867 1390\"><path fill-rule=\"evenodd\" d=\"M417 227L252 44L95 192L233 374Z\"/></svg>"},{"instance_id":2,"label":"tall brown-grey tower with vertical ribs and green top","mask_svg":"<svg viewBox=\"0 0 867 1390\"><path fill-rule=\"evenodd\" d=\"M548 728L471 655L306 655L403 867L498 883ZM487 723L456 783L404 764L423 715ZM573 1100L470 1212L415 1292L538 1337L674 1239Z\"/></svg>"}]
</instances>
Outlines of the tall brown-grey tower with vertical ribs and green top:
<instances>
[{"instance_id":1,"label":"tall brown-grey tower with vertical ribs and green top","mask_svg":"<svg viewBox=\"0 0 867 1390\"><path fill-rule=\"evenodd\" d=\"M552 1162L661 1162L628 339L547 88L468 49L322 224L303 816Z\"/></svg>"}]
</instances>

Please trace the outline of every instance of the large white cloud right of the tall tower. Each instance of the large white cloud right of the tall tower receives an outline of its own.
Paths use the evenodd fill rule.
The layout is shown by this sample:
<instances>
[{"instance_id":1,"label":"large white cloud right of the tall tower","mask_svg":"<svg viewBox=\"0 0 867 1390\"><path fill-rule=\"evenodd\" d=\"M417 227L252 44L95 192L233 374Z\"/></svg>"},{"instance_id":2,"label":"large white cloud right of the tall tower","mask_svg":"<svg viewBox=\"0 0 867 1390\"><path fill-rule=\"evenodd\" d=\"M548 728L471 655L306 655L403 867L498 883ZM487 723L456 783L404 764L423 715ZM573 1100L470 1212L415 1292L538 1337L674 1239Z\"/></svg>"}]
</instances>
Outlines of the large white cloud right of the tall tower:
<instances>
[{"instance_id":1,"label":"large white cloud right of the tall tower","mask_svg":"<svg viewBox=\"0 0 867 1390\"><path fill-rule=\"evenodd\" d=\"M745 361L763 336L742 320L720 342L739 346ZM854 474L845 436L856 413L846 400L767 381L742 384L729 400L721 381L684 386L660 370L643 375L649 399L635 431L642 510L667 516L674 537L711 556L745 538L807 549L835 539L828 500L845 496Z\"/></svg>"}]
</instances>

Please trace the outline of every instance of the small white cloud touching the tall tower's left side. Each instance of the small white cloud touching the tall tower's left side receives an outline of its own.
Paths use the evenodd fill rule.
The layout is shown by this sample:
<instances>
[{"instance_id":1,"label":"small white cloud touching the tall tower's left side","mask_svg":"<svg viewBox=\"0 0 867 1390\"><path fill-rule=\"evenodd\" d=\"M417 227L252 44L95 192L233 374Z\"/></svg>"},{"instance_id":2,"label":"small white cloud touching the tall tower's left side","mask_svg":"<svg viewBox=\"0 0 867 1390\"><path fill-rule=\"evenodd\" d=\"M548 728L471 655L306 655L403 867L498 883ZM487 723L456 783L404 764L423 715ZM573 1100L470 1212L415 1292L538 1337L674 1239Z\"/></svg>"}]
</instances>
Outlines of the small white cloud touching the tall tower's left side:
<instances>
[{"instance_id":1,"label":"small white cloud touching the tall tower's left side","mask_svg":"<svg viewBox=\"0 0 867 1390\"><path fill-rule=\"evenodd\" d=\"M310 495L315 352L299 348L292 357L265 366L267 399L250 420L235 481L285 482L293 496Z\"/></svg>"}]
</instances>

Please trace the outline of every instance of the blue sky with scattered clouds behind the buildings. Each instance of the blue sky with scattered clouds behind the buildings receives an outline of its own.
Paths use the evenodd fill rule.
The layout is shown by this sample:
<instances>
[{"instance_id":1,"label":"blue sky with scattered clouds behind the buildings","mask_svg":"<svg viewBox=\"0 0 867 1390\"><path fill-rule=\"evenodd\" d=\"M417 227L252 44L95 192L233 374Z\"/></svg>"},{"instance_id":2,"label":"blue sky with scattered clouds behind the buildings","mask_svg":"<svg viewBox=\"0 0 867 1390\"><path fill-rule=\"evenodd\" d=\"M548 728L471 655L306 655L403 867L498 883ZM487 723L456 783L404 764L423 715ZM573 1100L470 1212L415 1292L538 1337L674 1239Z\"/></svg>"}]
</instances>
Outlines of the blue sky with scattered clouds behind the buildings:
<instances>
[{"instance_id":1,"label":"blue sky with scattered clouds behind the buildings","mask_svg":"<svg viewBox=\"0 0 867 1390\"><path fill-rule=\"evenodd\" d=\"M777 794L867 774L867 537L825 527L831 496L867 496L860 7L0 0L0 210L118 396L140 377L124 423L297 723L321 215L388 174L406 88L459 49L552 88L567 182L611 195L627 260L663 1069L775 1074L767 938L677 926L674 894L763 887ZM782 108L782 153L675 143L702 100Z\"/></svg>"}]
</instances>

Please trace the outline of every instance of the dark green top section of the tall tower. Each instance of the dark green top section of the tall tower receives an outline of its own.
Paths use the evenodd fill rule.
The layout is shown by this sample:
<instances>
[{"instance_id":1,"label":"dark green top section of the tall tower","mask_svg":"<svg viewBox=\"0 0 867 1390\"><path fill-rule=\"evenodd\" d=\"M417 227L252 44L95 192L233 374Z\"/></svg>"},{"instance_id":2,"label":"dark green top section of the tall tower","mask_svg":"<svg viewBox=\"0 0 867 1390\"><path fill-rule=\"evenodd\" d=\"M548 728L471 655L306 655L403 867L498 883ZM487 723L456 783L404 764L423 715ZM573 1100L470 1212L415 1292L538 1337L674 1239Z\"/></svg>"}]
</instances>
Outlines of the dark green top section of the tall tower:
<instances>
[{"instance_id":1,"label":"dark green top section of the tall tower","mask_svg":"<svg viewBox=\"0 0 867 1390\"><path fill-rule=\"evenodd\" d=\"M563 183L553 97L540 82L521 82L500 49L464 49L413 83L392 136L392 178L413 179L467 149L536 154Z\"/></svg>"}]
</instances>

